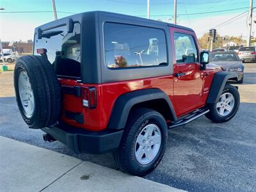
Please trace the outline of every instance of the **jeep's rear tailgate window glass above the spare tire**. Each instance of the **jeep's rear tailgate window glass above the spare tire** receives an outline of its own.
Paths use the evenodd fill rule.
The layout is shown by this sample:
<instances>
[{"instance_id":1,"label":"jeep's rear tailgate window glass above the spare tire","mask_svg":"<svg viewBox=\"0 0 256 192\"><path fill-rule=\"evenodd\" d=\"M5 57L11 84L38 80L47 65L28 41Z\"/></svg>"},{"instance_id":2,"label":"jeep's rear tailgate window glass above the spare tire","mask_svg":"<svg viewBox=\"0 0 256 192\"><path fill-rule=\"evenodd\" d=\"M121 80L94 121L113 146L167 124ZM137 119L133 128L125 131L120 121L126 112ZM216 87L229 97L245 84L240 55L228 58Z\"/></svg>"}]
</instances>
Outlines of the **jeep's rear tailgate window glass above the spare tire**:
<instances>
[{"instance_id":1,"label":"jeep's rear tailgate window glass above the spare tire","mask_svg":"<svg viewBox=\"0 0 256 192\"><path fill-rule=\"evenodd\" d=\"M36 36L35 36L36 38ZM42 32L42 39L35 39L34 54L45 49L46 56L61 77L81 77L81 29L74 24L72 33L67 33L67 26L61 26Z\"/></svg>"}]
</instances>

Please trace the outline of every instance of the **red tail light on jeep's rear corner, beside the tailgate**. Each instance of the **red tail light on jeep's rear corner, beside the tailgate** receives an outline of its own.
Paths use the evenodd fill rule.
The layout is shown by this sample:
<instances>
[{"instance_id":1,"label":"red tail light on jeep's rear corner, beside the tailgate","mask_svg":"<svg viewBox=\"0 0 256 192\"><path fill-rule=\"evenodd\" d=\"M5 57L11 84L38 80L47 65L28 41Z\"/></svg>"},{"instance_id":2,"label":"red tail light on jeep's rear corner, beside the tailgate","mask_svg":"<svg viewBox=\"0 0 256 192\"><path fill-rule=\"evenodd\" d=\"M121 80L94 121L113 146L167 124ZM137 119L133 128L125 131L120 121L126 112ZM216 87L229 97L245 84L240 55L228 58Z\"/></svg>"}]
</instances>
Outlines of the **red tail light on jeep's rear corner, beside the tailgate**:
<instances>
[{"instance_id":1,"label":"red tail light on jeep's rear corner, beside the tailgate","mask_svg":"<svg viewBox=\"0 0 256 192\"><path fill-rule=\"evenodd\" d=\"M90 109L96 108L96 105L97 105L96 88L82 87L81 92L82 92L83 106Z\"/></svg>"}]
</instances>

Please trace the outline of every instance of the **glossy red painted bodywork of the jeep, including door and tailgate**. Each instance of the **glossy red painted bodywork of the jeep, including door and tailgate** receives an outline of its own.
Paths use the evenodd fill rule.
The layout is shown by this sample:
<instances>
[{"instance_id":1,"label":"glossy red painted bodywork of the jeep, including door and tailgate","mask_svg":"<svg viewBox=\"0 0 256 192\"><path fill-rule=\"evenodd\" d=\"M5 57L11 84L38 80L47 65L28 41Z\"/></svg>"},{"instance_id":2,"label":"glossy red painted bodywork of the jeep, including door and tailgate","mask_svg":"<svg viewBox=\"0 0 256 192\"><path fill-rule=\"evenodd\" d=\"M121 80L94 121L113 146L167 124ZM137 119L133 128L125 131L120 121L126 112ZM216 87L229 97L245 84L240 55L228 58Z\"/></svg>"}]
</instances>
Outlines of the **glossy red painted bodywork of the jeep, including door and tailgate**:
<instances>
[{"instance_id":1,"label":"glossy red painted bodywork of the jeep, including door and tailgate","mask_svg":"<svg viewBox=\"0 0 256 192\"><path fill-rule=\"evenodd\" d=\"M200 51L195 33L184 29L170 28L172 47L174 47L174 32L192 35L195 39L198 52ZM111 111L116 99L120 95L147 88L159 88L165 92L173 104L177 117L201 108L205 105L207 100L214 73L218 72L219 69L207 68L206 70L200 70L200 63L184 63L177 65L175 52L169 52L169 54L172 54L173 58L173 61L169 63L169 65L173 63L173 74L184 72L186 73L185 76L178 78L170 75L104 84L82 84L77 83L76 80L59 79L61 85L93 86L96 88L97 92L97 107L95 109L83 107L81 97L63 93L63 112L61 119L74 127L89 131L102 131L108 126ZM76 121L66 118L65 110L74 113L83 113L84 124L78 124ZM166 121L168 121L168 119Z\"/></svg>"}]
</instances>

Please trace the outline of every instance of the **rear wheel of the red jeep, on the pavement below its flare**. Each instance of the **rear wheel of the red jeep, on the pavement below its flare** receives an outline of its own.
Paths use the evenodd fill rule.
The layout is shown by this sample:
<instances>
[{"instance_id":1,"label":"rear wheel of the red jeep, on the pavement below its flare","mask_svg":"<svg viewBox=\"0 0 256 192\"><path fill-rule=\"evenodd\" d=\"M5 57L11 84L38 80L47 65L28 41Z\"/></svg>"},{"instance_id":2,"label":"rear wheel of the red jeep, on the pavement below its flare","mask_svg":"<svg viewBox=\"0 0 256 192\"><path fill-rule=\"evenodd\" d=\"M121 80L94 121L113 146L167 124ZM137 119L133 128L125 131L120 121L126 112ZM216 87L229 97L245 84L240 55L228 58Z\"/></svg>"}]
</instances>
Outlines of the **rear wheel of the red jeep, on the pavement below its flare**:
<instances>
[{"instance_id":1,"label":"rear wheel of the red jeep, on the pavement below its flare","mask_svg":"<svg viewBox=\"0 0 256 192\"><path fill-rule=\"evenodd\" d=\"M127 120L115 161L123 172L144 176L156 168L166 148L164 117L152 109L136 109Z\"/></svg>"}]
</instances>

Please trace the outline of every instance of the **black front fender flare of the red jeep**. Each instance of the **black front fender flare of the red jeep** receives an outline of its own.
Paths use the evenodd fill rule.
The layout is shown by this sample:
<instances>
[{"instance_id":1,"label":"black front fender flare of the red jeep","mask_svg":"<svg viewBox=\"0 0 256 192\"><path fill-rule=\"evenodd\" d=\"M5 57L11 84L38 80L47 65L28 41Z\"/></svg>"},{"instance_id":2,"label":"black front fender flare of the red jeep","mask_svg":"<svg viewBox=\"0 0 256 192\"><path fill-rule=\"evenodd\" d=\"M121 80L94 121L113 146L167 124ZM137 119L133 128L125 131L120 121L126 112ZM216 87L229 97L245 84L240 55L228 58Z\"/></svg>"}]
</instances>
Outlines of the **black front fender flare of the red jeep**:
<instances>
[{"instance_id":1,"label":"black front fender flare of the red jeep","mask_svg":"<svg viewBox=\"0 0 256 192\"><path fill-rule=\"evenodd\" d=\"M220 98L221 93L227 83L228 79L237 78L237 74L232 74L230 72L217 72L211 83L210 92L207 98L207 103L216 103Z\"/></svg>"}]
</instances>

